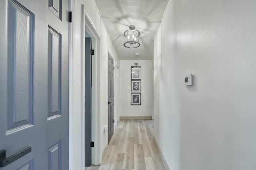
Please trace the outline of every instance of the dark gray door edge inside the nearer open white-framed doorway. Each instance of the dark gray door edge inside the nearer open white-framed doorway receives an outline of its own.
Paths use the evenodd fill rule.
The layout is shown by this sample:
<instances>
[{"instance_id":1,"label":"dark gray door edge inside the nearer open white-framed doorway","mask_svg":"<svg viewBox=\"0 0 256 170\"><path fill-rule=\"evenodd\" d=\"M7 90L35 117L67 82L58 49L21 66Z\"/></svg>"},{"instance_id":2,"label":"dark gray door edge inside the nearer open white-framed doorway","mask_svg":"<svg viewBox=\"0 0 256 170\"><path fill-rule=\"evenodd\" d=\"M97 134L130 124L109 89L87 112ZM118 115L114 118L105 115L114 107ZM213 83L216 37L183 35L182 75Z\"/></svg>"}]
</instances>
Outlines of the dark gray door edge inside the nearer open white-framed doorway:
<instances>
[{"instance_id":1,"label":"dark gray door edge inside the nearer open white-framed doorway","mask_svg":"<svg viewBox=\"0 0 256 170\"><path fill-rule=\"evenodd\" d=\"M84 158L85 165L91 166L91 120L92 120L92 55L91 55L92 41L91 38L85 38L85 103L84 103Z\"/></svg>"}]
</instances>

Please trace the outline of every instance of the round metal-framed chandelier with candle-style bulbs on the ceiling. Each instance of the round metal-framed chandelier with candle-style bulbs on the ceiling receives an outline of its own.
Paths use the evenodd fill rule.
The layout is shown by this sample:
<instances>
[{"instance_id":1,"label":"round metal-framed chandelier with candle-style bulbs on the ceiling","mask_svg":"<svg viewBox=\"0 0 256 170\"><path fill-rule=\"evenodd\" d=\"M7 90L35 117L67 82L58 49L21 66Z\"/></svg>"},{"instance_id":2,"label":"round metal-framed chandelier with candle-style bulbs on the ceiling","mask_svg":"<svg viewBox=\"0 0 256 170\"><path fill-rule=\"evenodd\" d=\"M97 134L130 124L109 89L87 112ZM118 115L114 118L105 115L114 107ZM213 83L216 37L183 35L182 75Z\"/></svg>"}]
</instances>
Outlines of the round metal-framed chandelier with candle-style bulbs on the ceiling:
<instances>
[{"instance_id":1,"label":"round metal-framed chandelier with candle-style bulbs on the ceiling","mask_svg":"<svg viewBox=\"0 0 256 170\"><path fill-rule=\"evenodd\" d=\"M124 43L124 47L126 48L137 48L140 46L139 36L140 32L135 30L135 26L129 26L129 30L124 32L124 36L126 42Z\"/></svg>"}]
</instances>

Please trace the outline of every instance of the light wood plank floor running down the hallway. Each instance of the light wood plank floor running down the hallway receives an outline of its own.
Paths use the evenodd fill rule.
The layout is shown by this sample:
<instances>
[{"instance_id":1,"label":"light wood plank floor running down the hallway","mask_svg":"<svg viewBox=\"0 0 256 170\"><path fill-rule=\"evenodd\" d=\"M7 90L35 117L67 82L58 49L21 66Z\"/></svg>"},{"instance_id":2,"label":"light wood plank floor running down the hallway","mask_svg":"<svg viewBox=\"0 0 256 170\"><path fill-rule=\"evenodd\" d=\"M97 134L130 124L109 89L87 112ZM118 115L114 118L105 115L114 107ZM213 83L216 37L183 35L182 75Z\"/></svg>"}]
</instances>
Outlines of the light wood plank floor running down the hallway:
<instances>
[{"instance_id":1,"label":"light wood plank floor running down the hallway","mask_svg":"<svg viewBox=\"0 0 256 170\"><path fill-rule=\"evenodd\" d=\"M154 121L123 120L117 127L102 164L85 170L164 170L153 142Z\"/></svg>"}]
</instances>

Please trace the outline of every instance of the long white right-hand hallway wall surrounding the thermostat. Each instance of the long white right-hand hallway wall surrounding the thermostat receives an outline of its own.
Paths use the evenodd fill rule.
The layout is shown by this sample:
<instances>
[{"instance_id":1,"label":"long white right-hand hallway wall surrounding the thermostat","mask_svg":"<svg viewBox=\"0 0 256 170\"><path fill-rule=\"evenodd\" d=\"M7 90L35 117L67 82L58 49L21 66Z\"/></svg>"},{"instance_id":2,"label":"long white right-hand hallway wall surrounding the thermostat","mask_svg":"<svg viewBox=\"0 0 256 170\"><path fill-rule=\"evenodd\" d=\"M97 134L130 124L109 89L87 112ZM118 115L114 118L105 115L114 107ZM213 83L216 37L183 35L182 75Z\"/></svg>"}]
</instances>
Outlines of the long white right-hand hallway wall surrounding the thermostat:
<instances>
[{"instance_id":1,"label":"long white right-hand hallway wall surrounding the thermostat","mask_svg":"<svg viewBox=\"0 0 256 170\"><path fill-rule=\"evenodd\" d=\"M170 169L256 169L255 9L170 1L154 39L155 137Z\"/></svg>"}]
</instances>

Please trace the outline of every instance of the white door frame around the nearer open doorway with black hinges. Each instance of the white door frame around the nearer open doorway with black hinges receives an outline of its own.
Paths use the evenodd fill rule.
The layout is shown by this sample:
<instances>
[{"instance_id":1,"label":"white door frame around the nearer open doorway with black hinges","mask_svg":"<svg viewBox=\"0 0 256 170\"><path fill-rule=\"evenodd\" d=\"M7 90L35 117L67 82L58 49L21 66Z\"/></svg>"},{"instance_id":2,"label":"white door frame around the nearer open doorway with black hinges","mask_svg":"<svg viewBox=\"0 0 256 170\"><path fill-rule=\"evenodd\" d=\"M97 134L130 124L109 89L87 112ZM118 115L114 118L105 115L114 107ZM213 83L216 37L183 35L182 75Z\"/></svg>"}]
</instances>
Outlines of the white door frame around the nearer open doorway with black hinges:
<instances>
[{"instance_id":1,"label":"white door frame around the nearer open doorway with black hinges","mask_svg":"<svg viewBox=\"0 0 256 170\"><path fill-rule=\"evenodd\" d=\"M84 5L82 4L82 113L84 113L84 75L85 75L85 30L92 38L92 49L94 49L94 56L92 57L92 141L94 141L94 148L92 148L92 164L99 165L101 163L100 154L100 49L101 36L96 26L90 19ZM84 115L81 117L82 121L82 163L84 165Z\"/></svg>"}]
</instances>

